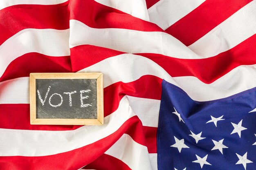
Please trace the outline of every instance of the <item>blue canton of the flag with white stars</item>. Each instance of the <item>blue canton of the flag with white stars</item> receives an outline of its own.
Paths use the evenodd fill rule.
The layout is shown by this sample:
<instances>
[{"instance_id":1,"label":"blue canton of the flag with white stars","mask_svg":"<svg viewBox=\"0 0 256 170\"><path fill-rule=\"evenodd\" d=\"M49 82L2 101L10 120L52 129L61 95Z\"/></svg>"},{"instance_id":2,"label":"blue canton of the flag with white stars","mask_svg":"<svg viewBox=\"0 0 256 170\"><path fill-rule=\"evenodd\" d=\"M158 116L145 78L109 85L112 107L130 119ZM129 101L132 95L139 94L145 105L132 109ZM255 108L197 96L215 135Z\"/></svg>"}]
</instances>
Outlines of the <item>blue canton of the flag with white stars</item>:
<instances>
[{"instance_id":1,"label":"blue canton of the flag with white stars","mask_svg":"<svg viewBox=\"0 0 256 170\"><path fill-rule=\"evenodd\" d=\"M197 102L162 82L158 170L256 170L256 88Z\"/></svg>"}]
</instances>

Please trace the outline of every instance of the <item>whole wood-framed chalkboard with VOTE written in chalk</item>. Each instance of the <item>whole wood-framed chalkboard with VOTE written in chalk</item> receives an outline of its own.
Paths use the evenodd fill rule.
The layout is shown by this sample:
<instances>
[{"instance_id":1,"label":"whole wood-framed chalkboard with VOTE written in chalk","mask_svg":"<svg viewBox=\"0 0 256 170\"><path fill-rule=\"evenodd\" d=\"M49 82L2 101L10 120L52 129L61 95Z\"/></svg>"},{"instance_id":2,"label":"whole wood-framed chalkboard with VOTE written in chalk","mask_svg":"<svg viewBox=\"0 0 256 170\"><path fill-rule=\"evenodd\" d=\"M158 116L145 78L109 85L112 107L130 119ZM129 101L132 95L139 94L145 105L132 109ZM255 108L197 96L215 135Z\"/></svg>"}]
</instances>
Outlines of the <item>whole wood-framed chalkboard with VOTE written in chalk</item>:
<instances>
[{"instance_id":1,"label":"whole wood-framed chalkboard with VOTE written in chalk","mask_svg":"<svg viewBox=\"0 0 256 170\"><path fill-rule=\"evenodd\" d=\"M103 124L102 73L31 73L31 124Z\"/></svg>"}]
</instances>

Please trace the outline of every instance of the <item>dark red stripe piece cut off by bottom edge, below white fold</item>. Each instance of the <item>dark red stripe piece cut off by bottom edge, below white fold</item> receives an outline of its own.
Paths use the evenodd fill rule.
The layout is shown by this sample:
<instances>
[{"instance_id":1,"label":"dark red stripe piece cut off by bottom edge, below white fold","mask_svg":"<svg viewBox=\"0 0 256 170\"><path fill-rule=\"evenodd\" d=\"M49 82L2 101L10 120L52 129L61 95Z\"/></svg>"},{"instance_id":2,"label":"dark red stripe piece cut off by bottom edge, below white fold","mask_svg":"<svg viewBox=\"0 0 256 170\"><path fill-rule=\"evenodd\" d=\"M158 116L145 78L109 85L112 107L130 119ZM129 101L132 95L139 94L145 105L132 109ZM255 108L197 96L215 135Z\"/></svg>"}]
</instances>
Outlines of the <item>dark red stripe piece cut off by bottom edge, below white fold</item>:
<instances>
[{"instance_id":1,"label":"dark red stripe piece cut off by bottom edge, below white fold","mask_svg":"<svg viewBox=\"0 0 256 170\"><path fill-rule=\"evenodd\" d=\"M112 157L110 155L103 154L95 161L83 167L82 169L89 170L131 170L123 161Z\"/></svg>"}]
</instances>

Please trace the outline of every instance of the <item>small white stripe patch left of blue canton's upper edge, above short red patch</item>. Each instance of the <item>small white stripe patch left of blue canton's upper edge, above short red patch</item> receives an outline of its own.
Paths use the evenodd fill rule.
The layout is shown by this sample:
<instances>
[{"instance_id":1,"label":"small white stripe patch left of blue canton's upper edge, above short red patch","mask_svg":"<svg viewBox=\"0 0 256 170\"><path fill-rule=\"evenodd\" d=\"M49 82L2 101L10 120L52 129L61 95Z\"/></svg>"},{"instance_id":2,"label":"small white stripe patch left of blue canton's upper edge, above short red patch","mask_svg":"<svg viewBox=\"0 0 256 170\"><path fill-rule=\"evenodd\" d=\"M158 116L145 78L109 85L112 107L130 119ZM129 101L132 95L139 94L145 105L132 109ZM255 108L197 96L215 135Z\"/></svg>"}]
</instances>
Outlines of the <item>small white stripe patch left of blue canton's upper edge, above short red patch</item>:
<instances>
[{"instance_id":1,"label":"small white stripe patch left of blue canton's upper edge, above short red patch","mask_svg":"<svg viewBox=\"0 0 256 170\"><path fill-rule=\"evenodd\" d=\"M134 113L143 126L158 127L160 100L127 96Z\"/></svg>"}]
</instances>

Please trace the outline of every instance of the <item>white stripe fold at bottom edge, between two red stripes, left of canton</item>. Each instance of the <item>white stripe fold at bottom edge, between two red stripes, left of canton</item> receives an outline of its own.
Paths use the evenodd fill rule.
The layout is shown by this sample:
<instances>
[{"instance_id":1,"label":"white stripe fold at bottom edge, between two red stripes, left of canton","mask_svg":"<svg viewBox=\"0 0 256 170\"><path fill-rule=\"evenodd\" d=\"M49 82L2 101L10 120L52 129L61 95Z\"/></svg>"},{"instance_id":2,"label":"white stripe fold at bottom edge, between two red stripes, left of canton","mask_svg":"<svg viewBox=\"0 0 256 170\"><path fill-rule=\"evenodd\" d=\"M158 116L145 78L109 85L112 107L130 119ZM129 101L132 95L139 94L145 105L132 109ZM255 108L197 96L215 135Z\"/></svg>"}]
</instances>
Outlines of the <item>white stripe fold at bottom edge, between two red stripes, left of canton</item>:
<instances>
[{"instance_id":1,"label":"white stripe fold at bottom edge, between two red stripes, left of canton","mask_svg":"<svg viewBox=\"0 0 256 170\"><path fill-rule=\"evenodd\" d=\"M122 135L105 154L123 161L132 170L152 170L148 148L138 144L127 134Z\"/></svg>"}]
</instances>

